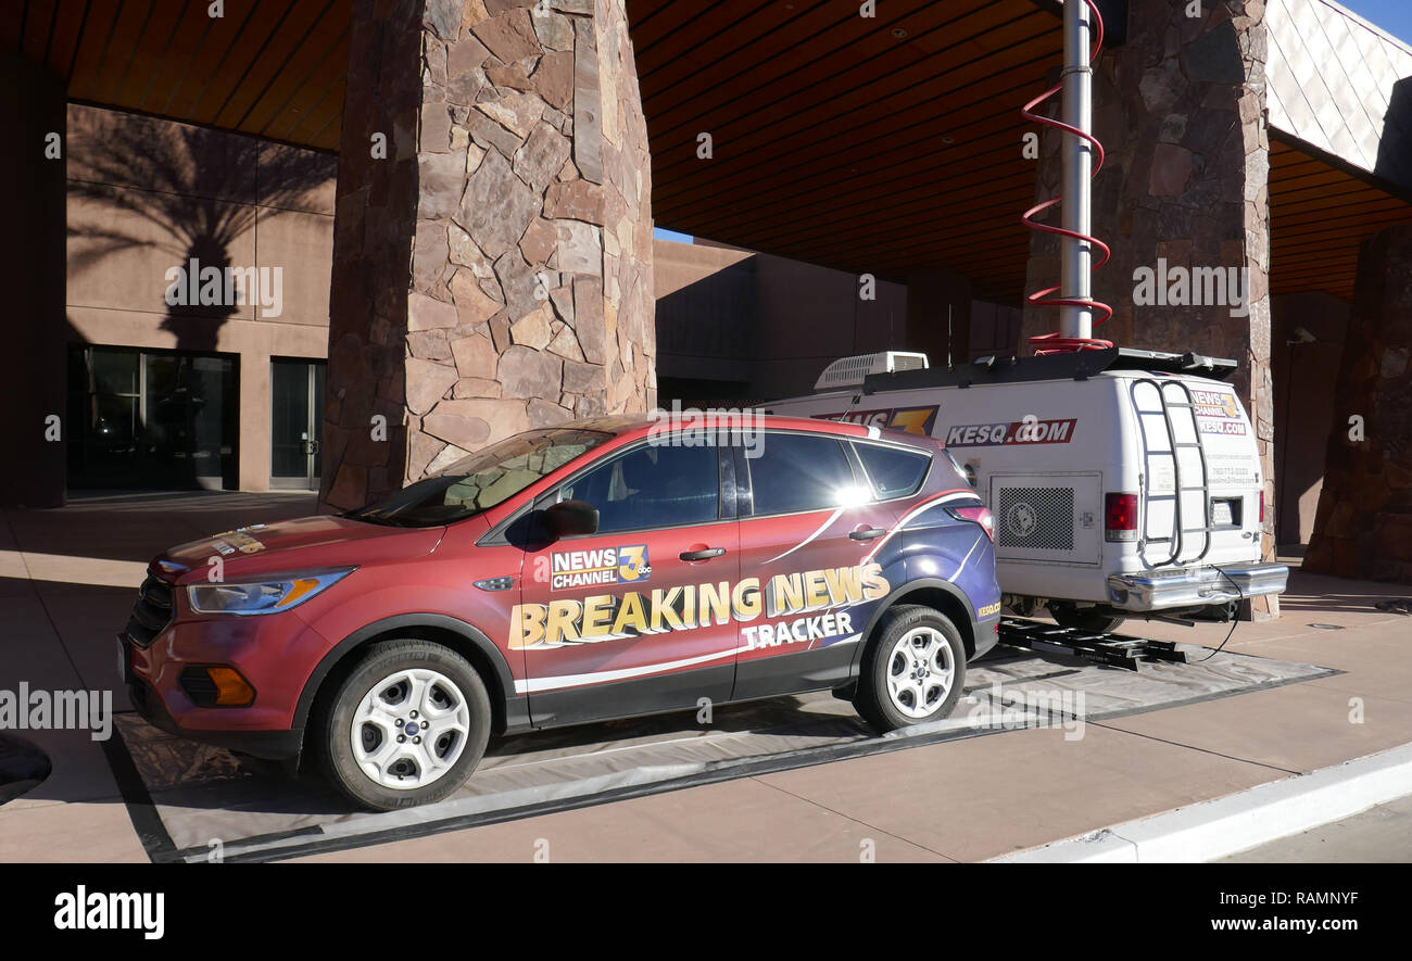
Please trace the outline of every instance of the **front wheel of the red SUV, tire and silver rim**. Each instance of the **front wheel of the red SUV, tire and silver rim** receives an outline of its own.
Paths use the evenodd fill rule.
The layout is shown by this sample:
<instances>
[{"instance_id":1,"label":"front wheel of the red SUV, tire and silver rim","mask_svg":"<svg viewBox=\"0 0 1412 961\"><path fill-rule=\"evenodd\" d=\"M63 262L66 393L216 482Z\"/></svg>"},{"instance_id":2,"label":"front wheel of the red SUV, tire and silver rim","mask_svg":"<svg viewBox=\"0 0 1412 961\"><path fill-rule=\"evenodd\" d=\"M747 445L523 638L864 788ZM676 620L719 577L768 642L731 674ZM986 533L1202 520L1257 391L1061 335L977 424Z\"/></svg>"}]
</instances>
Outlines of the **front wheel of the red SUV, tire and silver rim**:
<instances>
[{"instance_id":1,"label":"front wheel of the red SUV, tire and silver rim","mask_svg":"<svg viewBox=\"0 0 1412 961\"><path fill-rule=\"evenodd\" d=\"M449 797L480 763L490 696L476 669L429 641L383 641L339 683L319 728L329 779L383 811Z\"/></svg>"}]
</instances>

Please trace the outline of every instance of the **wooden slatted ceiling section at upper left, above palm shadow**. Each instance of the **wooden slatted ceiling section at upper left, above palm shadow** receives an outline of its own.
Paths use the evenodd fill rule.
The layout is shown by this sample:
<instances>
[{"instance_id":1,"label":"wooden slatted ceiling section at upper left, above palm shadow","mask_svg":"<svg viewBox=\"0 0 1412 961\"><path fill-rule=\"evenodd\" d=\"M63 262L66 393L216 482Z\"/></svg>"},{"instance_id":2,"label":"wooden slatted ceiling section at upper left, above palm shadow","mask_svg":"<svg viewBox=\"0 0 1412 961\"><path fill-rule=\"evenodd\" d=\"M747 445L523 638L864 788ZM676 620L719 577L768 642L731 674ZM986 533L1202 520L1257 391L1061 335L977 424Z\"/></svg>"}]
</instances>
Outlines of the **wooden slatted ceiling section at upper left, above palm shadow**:
<instances>
[{"instance_id":1,"label":"wooden slatted ceiling section at upper left, above palm shadow","mask_svg":"<svg viewBox=\"0 0 1412 961\"><path fill-rule=\"evenodd\" d=\"M336 150L350 0L8 0L0 49L69 99Z\"/></svg>"}]
</instances>

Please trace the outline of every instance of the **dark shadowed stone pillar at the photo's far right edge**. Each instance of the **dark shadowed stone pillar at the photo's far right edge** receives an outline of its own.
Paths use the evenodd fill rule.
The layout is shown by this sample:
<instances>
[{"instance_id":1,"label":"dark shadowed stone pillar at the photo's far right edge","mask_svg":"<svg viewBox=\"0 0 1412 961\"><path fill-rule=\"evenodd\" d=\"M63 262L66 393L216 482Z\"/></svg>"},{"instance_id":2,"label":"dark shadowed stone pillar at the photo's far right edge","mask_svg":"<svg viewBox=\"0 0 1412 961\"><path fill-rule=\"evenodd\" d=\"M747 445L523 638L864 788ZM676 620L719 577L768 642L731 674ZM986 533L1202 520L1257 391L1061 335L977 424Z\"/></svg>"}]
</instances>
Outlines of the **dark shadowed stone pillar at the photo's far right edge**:
<instances>
[{"instance_id":1,"label":"dark shadowed stone pillar at the photo's far right edge","mask_svg":"<svg viewBox=\"0 0 1412 961\"><path fill-rule=\"evenodd\" d=\"M1412 584L1412 227L1358 257L1305 570Z\"/></svg>"}]
</instances>

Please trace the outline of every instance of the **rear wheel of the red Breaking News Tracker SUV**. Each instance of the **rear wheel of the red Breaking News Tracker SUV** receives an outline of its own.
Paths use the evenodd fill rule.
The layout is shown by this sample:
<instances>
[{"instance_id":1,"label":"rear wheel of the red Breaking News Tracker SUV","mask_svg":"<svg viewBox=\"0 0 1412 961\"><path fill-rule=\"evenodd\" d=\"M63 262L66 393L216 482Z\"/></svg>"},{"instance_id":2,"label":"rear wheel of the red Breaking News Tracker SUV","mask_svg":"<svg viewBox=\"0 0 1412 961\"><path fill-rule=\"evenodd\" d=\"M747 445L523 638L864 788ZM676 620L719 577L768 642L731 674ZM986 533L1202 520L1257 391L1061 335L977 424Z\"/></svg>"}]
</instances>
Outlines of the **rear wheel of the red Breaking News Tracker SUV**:
<instances>
[{"instance_id":1,"label":"rear wheel of the red Breaking News Tracker SUV","mask_svg":"<svg viewBox=\"0 0 1412 961\"><path fill-rule=\"evenodd\" d=\"M877 731L947 717L966 683L966 645L945 615L899 604L878 622L863 655L853 706Z\"/></svg>"}]
</instances>

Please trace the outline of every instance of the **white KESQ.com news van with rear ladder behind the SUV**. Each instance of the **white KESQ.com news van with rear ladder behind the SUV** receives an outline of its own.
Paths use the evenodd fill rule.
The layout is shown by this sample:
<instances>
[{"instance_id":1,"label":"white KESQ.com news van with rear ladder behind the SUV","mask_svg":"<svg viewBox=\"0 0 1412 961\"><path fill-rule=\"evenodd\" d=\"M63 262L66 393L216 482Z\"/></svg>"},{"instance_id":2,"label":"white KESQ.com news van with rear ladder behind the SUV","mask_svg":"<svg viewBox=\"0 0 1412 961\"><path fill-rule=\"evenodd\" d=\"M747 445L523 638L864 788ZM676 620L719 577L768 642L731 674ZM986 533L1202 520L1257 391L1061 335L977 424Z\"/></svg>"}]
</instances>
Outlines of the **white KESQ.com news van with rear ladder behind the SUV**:
<instances>
[{"instance_id":1,"label":"white KESQ.com news van with rear ladder behind the SUV","mask_svg":"<svg viewBox=\"0 0 1412 961\"><path fill-rule=\"evenodd\" d=\"M942 439L994 515L1005 605L1111 631L1214 617L1285 590L1261 562L1264 478L1234 361L1114 347L929 368L925 354L834 361L770 413ZM840 389L842 388L842 389Z\"/></svg>"}]
</instances>

